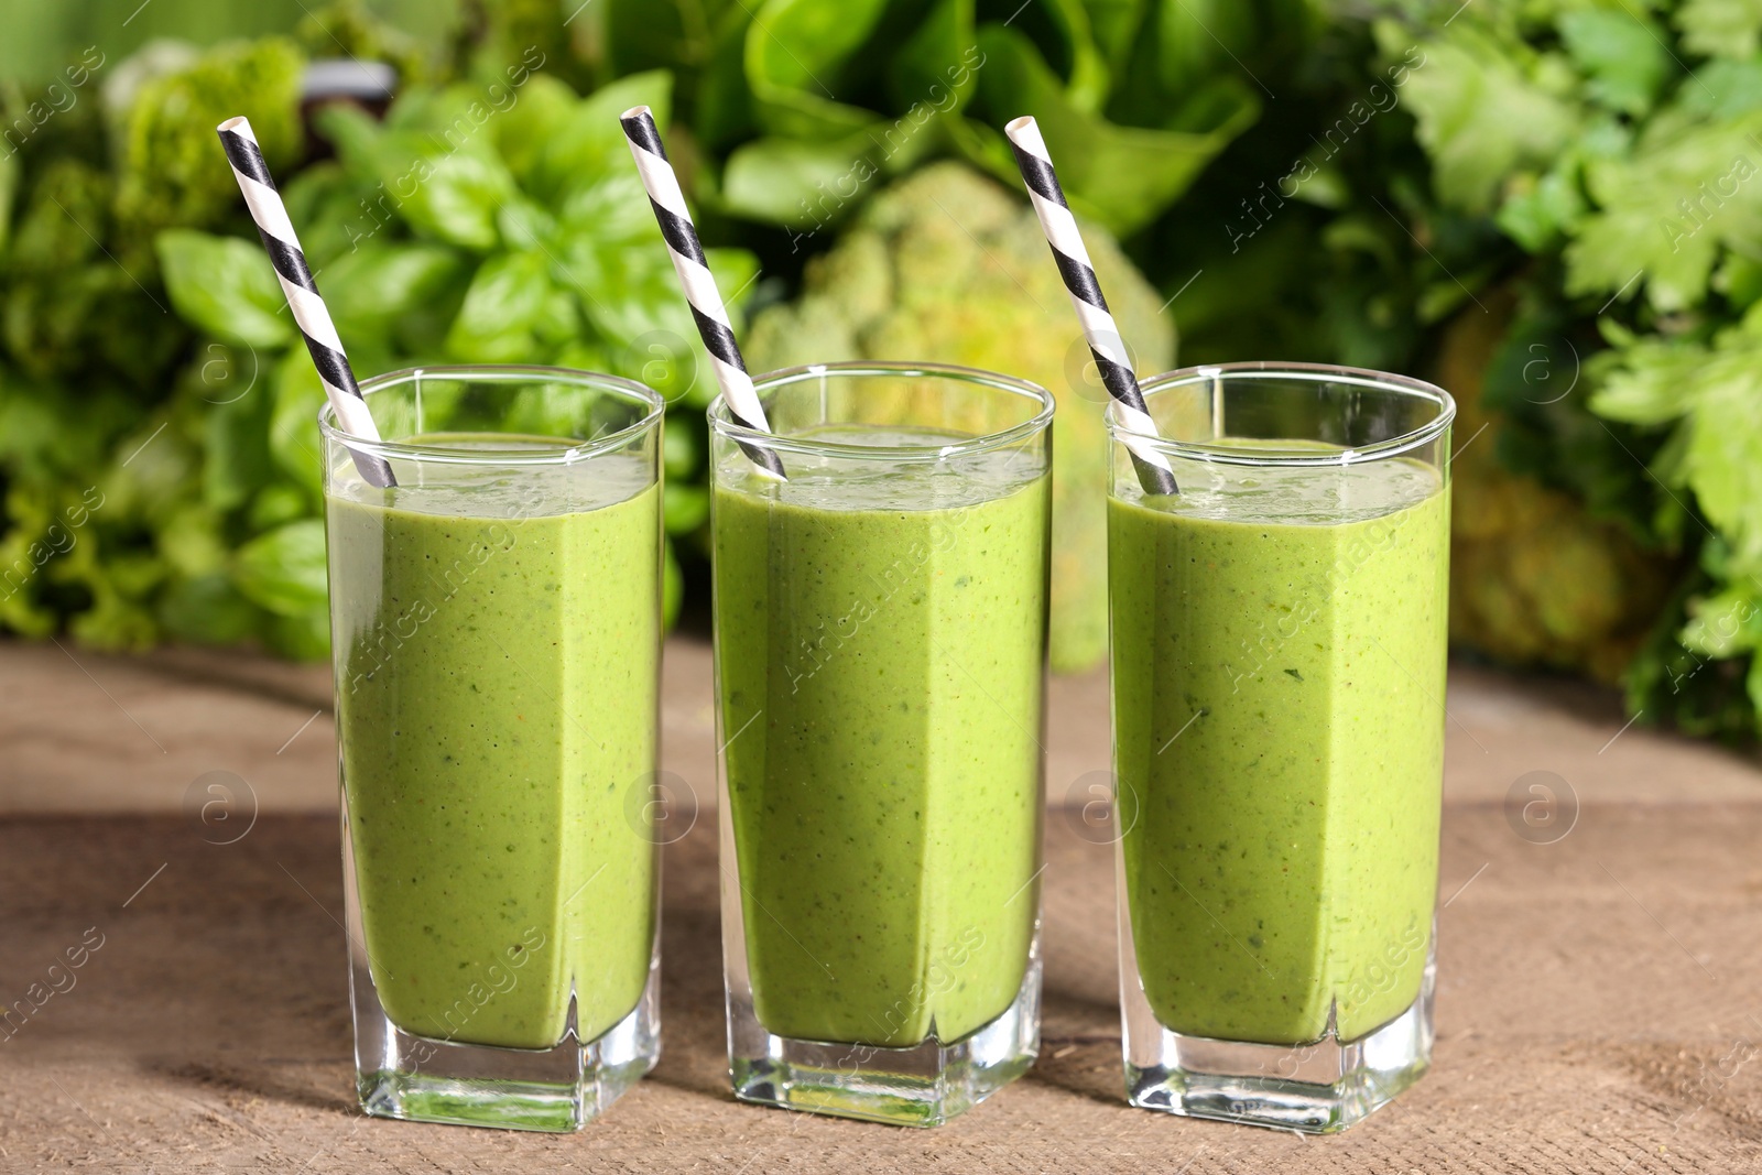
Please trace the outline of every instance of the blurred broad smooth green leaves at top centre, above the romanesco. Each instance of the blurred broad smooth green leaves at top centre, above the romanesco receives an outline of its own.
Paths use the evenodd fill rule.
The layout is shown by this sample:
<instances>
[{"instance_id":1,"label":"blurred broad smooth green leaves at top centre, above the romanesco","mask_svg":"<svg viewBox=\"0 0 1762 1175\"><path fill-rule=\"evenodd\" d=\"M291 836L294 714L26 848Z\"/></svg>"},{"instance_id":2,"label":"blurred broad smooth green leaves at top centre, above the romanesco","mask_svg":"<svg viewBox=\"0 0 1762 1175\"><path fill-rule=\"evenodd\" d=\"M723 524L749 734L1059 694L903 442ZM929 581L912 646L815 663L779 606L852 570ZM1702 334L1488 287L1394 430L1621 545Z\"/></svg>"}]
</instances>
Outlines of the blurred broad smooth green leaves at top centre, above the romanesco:
<instances>
[{"instance_id":1,"label":"blurred broad smooth green leaves at top centre, above the romanesco","mask_svg":"<svg viewBox=\"0 0 1762 1175\"><path fill-rule=\"evenodd\" d=\"M1260 115L1232 53L1314 21L1302 0L601 0L583 19L603 69L680 78L682 123L722 160L700 194L729 215L819 229L948 153L1013 187L1001 127L1034 115L1071 203L1115 233Z\"/></svg>"}]
</instances>

